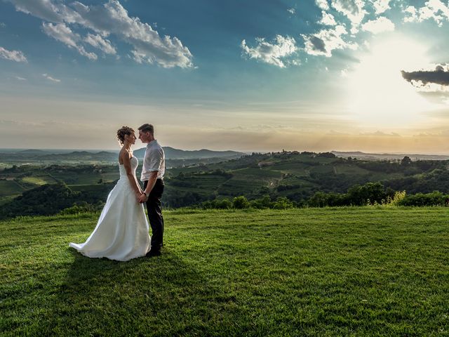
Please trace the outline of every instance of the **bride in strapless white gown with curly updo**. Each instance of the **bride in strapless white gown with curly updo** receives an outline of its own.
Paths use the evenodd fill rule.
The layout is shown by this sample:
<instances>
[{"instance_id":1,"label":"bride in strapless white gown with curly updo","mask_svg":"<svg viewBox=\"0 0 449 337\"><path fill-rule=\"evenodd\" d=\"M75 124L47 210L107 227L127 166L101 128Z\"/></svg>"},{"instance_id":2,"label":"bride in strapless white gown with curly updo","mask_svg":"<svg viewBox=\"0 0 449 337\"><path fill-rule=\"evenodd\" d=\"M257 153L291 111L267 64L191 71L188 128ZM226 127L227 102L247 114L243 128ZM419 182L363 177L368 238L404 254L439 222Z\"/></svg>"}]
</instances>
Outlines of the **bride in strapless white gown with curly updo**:
<instances>
[{"instance_id":1,"label":"bride in strapless white gown with curly updo","mask_svg":"<svg viewBox=\"0 0 449 337\"><path fill-rule=\"evenodd\" d=\"M138 202L142 190L135 178L138 159L131 150L136 140L134 130L123 126L117 138L123 145L119 153L120 179L109 192L91 236L83 244L71 242L69 246L89 258L127 261L145 256L150 237L143 204Z\"/></svg>"}]
</instances>

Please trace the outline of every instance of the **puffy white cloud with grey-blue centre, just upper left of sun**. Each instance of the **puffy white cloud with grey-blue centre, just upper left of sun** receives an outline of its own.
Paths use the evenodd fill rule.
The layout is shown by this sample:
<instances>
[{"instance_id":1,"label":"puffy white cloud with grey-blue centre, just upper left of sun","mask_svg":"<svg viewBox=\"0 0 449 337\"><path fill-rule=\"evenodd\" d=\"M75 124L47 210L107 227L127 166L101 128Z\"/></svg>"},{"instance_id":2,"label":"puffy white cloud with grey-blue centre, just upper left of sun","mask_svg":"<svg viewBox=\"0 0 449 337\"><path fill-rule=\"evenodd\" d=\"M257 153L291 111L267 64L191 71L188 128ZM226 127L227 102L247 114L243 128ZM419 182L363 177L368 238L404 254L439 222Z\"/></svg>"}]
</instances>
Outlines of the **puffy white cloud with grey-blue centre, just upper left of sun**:
<instances>
[{"instance_id":1,"label":"puffy white cloud with grey-blue centre, just upper left of sun","mask_svg":"<svg viewBox=\"0 0 449 337\"><path fill-rule=\"evenodd\" d=\"M309 55L324 55L330 58L335 49L356 49L357 44L351 44L342 39L347 34L343 25L337 25L330 29L322 29L316 34L304 35L304 51Z\"/></svg>"}]
</instances>

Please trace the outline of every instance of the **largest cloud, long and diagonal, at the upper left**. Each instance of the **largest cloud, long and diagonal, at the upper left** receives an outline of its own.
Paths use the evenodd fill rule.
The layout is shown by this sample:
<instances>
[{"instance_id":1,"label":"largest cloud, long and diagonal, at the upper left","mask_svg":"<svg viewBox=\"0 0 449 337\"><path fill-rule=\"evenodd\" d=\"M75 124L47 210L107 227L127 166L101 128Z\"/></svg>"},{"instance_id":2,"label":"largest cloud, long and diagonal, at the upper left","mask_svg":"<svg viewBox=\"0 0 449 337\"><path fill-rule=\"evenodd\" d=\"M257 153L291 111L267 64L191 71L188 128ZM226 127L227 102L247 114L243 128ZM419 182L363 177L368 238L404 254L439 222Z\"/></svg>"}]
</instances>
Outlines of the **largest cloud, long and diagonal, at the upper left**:
<instances>
[{"instance_id":1,"label":"largest cloud, long and diagonal, at the upper left","mask_svg":"<svg viewBox=\"0 0 449 337\"><path fill-rule=\"evenodd\" d=\"M70 7L55 0L7 0L15 5L18 11L29 13L43 20L57 24L76 24L74 27L92 29L102 38L115 35L133 46L133 50L142 55L142 62L156 63L161 67L193 67L192 53L182 45L177 37L160 37L147 23L128 15L118 0L109 0L102 5L86 6L79 1ZM75 40L76 41L76 40ZM106 41L103 39L103 41ZM106 44L99 46L106 48ZM110 44L109 44L110 45ZM93 58L93 53L86 53L82 46L76 44L83 55ZM111 46L112 47L112 46ZM76 48L73 46L73 48ZM96 55L95 55L96 56Z\"/></svg>"}]
</instances>

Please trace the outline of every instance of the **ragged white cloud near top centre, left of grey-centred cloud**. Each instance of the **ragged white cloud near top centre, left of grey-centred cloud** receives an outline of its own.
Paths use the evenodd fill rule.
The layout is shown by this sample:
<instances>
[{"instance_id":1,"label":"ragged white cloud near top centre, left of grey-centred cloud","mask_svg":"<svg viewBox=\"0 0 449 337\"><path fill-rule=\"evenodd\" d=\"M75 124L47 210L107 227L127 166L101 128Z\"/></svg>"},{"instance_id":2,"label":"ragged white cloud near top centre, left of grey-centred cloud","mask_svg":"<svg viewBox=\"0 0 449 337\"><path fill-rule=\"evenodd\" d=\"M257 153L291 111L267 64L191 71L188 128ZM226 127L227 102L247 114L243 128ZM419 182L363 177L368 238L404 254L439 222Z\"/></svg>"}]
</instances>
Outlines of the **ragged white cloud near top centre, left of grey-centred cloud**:
<instances>
[{"instance_id":1,"label":"ragged white cloud near top centre, left of grey-centred cloud","mask_svg":"<svg viewBox=\"0 0 449 337\"><path fill-rule=\"evenodd\" d=\"M286 64L281 58L286 58L296 52L296 41L293 37L282 37L276 35L275 41L270 44L265 39L257 39L257 46L250 48L246 45L246 41L241 41L241 48L243 53L250 58L262 60L262 62L276 65L278 67L286 67Z\"/></svg>"}]
</instances>

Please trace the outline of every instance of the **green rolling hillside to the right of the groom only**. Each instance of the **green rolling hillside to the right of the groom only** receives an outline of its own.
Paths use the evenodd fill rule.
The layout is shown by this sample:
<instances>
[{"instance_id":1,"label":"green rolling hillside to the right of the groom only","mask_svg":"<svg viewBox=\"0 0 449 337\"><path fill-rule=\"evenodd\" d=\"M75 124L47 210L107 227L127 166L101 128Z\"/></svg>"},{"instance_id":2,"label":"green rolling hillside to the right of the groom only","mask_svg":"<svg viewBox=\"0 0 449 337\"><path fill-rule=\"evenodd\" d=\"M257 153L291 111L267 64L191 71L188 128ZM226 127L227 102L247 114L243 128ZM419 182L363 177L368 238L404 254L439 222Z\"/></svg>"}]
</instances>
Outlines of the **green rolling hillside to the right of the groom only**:
<instances>
[{"instance_id":1,"label":"green rolling hillside to the right of the groom only","mask_svg":"<svg viewBox=\"0 0 449 337\"><path fill-rule=\"evenodd\" d=\"M173 168L167 177L165 198L170 206L238 195L255 199L264 194L302 203L316 192L344 193L369 182L408 193L449 192L448 161L368 161L312 152L252 154L217 164Z\"/></svg>"}]
</instances>

